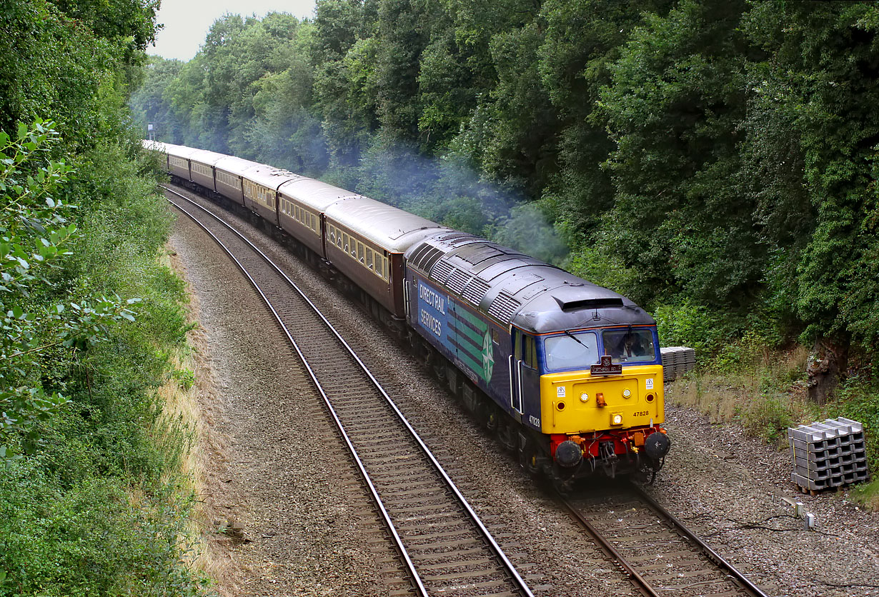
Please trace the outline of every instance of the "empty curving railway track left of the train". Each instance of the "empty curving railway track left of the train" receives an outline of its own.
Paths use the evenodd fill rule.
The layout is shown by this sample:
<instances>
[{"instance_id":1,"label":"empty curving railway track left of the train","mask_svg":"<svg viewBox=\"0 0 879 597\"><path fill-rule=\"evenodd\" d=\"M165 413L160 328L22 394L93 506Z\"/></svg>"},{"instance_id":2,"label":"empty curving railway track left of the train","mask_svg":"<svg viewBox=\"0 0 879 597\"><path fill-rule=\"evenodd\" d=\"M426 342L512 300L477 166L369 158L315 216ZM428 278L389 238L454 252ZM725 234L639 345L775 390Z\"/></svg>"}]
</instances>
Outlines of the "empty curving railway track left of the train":
<instances>
[{"instance_id":1,"label":"empty curving railway track left of the train","mask_svg":"<svg viewBox=\"0 0 879 597\"><path fill-rule=\"evenodd\" d=\"M530 597L425 442L316 306L232 227L176 191L164 191L250 279L305 364L408 572L410 589L395 593Z\"/></svg>"}]
</instances>

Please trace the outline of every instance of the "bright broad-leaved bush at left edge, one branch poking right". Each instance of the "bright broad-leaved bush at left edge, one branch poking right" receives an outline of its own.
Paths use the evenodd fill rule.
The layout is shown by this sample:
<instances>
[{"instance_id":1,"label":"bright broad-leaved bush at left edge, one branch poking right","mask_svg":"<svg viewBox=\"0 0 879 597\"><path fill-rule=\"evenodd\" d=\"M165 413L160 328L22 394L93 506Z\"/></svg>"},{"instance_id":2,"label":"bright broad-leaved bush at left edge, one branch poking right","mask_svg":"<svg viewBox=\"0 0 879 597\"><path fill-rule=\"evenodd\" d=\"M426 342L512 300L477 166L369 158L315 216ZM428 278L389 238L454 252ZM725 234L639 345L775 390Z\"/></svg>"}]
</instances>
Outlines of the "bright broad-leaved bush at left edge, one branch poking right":
<instances>
[{"instance_id":1,"label":"bright broad-leaved bush at left edge, one branch poking right","mask_svg":"<svg viewBox=\"0 0 879 597\"><path fill-rule=\"evenodd\" d=\"M59 290L77 232L75 206L52 196L72 171L51 159L58 136L39 119L15 137L0 132L0 463L36 451L40 423L69 402L42 379L47 350L76 354L102 342L108 325L134 320L127 307L139 300Z\"/></svg>"}]
</instances>

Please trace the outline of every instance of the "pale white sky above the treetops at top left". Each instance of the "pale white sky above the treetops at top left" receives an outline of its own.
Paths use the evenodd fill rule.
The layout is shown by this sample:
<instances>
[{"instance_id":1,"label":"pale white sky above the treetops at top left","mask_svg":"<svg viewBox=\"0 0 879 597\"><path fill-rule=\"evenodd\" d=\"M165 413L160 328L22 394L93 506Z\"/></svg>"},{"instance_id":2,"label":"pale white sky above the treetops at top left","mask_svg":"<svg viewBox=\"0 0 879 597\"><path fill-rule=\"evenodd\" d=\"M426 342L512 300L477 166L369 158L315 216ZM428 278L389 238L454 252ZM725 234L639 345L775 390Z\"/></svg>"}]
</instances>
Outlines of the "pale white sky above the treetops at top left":
<instances>
[{"instance_id":1,"label":"pale white sky above the treetops at top left","mask_svg":"<svg viewBox=\"0 0 879 597\"><path fill-rule=\"evenodd\" d=\"M156 22L164 28L156 35L156 47L147 54L188 61L199 51L207 30L227 12L264 17L266 12L289 12L311 17L315 0L162 0Z\"/></svg>"}]
</instances>

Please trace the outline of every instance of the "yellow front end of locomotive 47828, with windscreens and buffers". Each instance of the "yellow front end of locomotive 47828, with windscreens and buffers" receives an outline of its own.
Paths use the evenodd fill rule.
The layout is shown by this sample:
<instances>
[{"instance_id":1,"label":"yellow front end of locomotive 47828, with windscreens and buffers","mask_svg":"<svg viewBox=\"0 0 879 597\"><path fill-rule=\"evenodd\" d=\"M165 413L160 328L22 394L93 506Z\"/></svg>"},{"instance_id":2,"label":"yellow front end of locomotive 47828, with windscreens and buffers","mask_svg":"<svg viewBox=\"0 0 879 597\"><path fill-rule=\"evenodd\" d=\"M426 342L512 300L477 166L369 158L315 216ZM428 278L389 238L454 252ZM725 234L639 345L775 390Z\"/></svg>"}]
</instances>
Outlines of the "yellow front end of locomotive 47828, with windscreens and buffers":
<instances>
[{"instance_id":1,"label":"yellow front end of locomotive 47828, with windscreens and buffers","mask_svg":"<svg viewBox=\"0 0 879 597\"><path fill-rule=\"evenodd\" d=\"M558 467L578 477L657 471L670 442L656 327L567 330L542 347L541 431Z\"/></svg>"}]
</instances>

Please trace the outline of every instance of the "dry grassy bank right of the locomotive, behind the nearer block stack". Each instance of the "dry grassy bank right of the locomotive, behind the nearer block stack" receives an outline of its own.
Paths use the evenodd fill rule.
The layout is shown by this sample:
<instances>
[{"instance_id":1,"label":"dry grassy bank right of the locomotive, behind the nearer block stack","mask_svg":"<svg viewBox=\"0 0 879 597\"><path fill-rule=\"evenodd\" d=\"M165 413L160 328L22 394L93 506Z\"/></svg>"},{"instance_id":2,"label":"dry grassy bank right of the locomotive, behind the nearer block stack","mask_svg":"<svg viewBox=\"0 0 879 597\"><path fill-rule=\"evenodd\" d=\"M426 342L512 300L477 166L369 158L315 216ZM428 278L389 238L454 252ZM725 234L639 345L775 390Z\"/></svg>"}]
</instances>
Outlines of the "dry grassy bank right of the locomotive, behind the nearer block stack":
<instances>
[{"instance_id":1,"label":"dry grassy bank right of the locomotive, behind the nearer block stack","mask_svg":"<svg viewBox=\"0 0 879 597\"><path fill-rule=\"evenodd\" d=\"M844 416L861 421L870 471L879 471L879 387L868 372L845 380L825 405L806 395L809 351L802 346L765 349L753 334L669 387L667 398L706 414L711 422L736 422L748 435L788 449L788 427ZM855 500L879 509L879 479L856 486Z\"/></svg>"}]
</instances>

